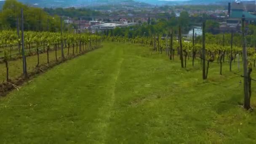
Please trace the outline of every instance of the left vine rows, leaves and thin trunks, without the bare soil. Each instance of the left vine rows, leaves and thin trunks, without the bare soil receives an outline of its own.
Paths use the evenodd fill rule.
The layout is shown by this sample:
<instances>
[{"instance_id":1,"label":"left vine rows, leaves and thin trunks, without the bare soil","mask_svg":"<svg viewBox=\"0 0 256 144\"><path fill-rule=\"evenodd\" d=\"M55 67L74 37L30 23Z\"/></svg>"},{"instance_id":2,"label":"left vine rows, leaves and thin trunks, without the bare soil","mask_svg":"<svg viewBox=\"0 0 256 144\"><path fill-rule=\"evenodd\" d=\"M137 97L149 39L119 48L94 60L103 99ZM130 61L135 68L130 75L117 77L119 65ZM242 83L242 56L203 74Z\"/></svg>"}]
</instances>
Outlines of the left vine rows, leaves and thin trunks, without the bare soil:
<instances>
[{"instance_id":1,"label":"left vine rows, leaves and thin trunks, without the bare soil","mask_svg":"<svg viewBox=\"0 0 256 144\"><path fill-rule=\"evenodd\" d=\"M42 59L40 55L45 55L43 61L50 63L50 51L55 51L55 60L58 63L58 51L61 52L61 61L66 58L85 53L86 51L98 48L101 45L101 37L87 34L69 34L58 32L32 32L24 33L24 51L22 41L17 36L16 31L1 31L0 33L0 63L5 63L6 81L9 82L9 61L24 58L24 75L27 75L26 57L37 55L36 67L39 68ZM64 53L64 48L66 52ZM52 59L52 57L51 57ZM61 62L60 61L60 62ZM54 63L53 63L54 64ZM40 69L40 68L39 68ZM13 78L13 77L12 77Z\"/></svg>"}]
</instances>

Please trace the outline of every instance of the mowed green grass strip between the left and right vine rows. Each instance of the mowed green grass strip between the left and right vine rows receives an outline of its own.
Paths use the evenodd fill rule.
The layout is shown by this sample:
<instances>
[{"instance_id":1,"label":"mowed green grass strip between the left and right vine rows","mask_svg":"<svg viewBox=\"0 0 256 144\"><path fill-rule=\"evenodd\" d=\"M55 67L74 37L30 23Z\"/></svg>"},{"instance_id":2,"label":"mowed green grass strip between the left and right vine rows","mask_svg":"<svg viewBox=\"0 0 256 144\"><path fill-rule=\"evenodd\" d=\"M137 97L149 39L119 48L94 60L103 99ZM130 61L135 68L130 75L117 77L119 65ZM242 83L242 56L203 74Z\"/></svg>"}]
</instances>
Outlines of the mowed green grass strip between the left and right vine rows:
<instances>
[{"instance_id":1,"label":"mowed green grass strip between the left and right vine rows","mask_svg":"<svg viewBox=\"0 0 256 144\"><path fill-rule=\"evenodd\" d=\"M0 143L256 143L256 112L238 104L239 73L224 64L221 76L211 64L203 81L198 60L181 69L175 59L104 43L60 64L0 99Z\"/></svg>"}]
</instances>

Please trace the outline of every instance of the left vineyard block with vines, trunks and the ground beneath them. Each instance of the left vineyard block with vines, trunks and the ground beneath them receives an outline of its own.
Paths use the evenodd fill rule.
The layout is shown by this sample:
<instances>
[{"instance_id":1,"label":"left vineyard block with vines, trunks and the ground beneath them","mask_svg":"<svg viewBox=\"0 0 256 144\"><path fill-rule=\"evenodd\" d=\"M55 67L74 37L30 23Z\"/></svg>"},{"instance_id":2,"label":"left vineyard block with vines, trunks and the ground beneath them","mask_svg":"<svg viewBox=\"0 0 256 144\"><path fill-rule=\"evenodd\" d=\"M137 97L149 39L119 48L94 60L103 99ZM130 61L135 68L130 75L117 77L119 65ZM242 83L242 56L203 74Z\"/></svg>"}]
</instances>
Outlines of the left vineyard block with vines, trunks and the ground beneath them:
<instances>
[{"instance_id":1,"label":"left vineyard block with vines, trunks and the ground beneath them","mask_svg":"<svg viewBox=\"0 0 256 144\"><path fill-rule=\"evenodd\" d=\"M0 33L0 81L1 93L10 88L19 88L20 83L29 75L44 72L66 59L73 58L101 46L101 37L88 34L68 34L56 32L25 32L24 54L21 39L16 31ZM26 59L26 74L22 73L22 56ZM5 70L4 70L5 69Z\"/></svg>"}]
</instances>

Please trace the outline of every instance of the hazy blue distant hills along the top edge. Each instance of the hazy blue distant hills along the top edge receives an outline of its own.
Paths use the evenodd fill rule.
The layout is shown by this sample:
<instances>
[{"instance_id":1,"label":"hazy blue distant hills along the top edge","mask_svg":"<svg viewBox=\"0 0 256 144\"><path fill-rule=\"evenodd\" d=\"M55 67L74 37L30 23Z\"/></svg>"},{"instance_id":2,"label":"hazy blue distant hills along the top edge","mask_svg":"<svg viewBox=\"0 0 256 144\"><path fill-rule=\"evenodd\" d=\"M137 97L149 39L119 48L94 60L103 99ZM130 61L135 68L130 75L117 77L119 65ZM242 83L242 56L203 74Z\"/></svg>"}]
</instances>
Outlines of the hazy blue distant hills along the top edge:
<instances>
[{"instance_id":1,"label":"hazy blue distant hills along the top edge","mask_svg":"<svg viewBox=\"0 0 256 144\"><path fill-rule=\"evenodd\" d=\"M35 7L98 7L102 5L206 5L206 4L219 4L226 5L228 1L233 0L18 0L26 5ZM0 7L4 1L0 1Z\"/></svg>"}]
</instances>

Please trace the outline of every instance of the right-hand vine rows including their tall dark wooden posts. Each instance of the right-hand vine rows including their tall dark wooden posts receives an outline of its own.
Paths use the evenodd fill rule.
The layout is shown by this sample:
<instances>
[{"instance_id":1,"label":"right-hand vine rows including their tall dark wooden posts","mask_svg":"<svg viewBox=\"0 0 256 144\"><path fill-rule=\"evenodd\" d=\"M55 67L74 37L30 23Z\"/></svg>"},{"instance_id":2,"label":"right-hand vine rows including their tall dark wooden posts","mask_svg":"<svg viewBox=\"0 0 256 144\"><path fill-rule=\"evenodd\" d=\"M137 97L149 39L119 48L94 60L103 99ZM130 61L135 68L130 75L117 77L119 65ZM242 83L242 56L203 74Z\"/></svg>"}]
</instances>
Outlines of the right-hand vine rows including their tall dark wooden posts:
<instances>
[{"instance_id":1,"label":"right-hand vine rows including their tall dark wooden posts","mask_svg":"<svg viewBox=\"0 0 256 144\"><path fill-rule=\"evenodd\" d=\"M232 63L237 63L238 71L243 67L243 73L234 74L244 77L244 107L250 109L251 105L251 82L256 81L251 77L253 68L256 67L256 31L245 30L245 21L242 20L242 29L238 33L211 35L205 34L205 22L203 23L203 35L197 37L193 30L192 40L185 41L181 36L179 27L177 40L173 40L173 31L162 35L153 33L151 37L107 37L111 42L128 42L148 45L154 51L165 52L170 60L174 60L175 53L181 61L181 67L187 67L187 61L192 60L192 67L196 59L200 59L200 66L203 68L203 80L206 80L211 63L219 64L219 74L223 74L223 64L229 64L229 71L232 72ZM106 33L106 32L104 32ZM108 33L108 32L107 32ZM112 32L111 32L112 33ZM248 33L246 35L246 33ZM251 35L249 34L251 33ZM168 37L169 35L169 37ZM241 66L240 66L241 65Z\"/></svg>"}]
</instances>

